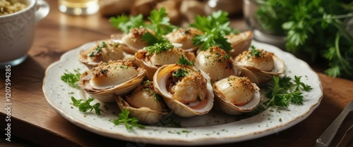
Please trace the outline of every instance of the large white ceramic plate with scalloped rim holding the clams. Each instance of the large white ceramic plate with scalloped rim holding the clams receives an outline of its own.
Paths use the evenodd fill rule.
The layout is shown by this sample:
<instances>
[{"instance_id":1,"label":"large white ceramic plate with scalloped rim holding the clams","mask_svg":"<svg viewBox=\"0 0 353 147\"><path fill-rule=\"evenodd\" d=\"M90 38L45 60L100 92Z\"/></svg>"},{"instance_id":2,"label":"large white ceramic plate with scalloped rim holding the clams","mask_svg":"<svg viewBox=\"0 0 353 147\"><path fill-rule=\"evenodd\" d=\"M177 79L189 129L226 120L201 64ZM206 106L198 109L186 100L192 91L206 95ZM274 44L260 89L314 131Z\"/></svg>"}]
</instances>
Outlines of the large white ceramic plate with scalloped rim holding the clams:
<instances>
[{"instance_id":1,"label":"large white ceramic plate with scalloped rim holding the clams","mask_svg":"<svg viewBox=\"0 0 353 147\"><path fill-rule=\"evenodd\" d=\"M87 70L85 65L78 61L78 51L95 45L90 42L64 53L61 59L47 68L44 77L43 91L47 102L78 127L102 136L126 141L155 143L164 145L210 145L217 143L230 143L256 139L261 136L274 134L292 127L308 117L318 107L323 91L320 79L307 63L292 56L292 54L277 49L275 46L258 43L252 44L258 48L274 52L285 60L285 75L294 77L302 76L302 82L309 84L313 89L304 92L304 105L291 104L288 110L269 108L256 116L236 121L236 117L211 111L207 115L189 118L174 117L180 120L183 127L155 127L134 129L128 132L124 125L114 125L109 120L116 119L119 108L116 103L101 103L102 115L95 113L80 113L71 102L71 96L76 99L89 98L84 91L74 89L61 81L60 77L66 70L73 72L79 68L80 72ZM262 94L264 91L262 91ZM99 101L94 101L99 102Z\"/></svg>"}]
</instances>

